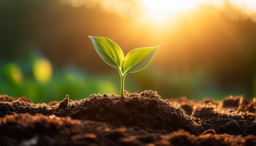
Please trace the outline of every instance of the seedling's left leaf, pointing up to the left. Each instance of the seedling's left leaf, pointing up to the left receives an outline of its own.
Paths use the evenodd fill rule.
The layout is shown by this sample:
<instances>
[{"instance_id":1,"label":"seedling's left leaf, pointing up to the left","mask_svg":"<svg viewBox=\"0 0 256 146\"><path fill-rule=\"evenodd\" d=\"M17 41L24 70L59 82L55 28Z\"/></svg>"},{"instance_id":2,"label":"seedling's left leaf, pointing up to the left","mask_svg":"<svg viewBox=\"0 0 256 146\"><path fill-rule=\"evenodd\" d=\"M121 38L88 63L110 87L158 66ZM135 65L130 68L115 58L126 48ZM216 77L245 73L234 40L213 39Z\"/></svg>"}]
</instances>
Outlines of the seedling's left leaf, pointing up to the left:
<instances>
[{"instance_id":1,"label":"seedling's left leaf, pointing up to the left","mask_svg":"<svg viewBox=\"0 0 256 146\"><path fill-rule=\"evenodd\" d=\"M114 41L105 37L89 36L102 60L113 68L121 68L124 62L123 50Z\"/></svg>"}]
</instances>

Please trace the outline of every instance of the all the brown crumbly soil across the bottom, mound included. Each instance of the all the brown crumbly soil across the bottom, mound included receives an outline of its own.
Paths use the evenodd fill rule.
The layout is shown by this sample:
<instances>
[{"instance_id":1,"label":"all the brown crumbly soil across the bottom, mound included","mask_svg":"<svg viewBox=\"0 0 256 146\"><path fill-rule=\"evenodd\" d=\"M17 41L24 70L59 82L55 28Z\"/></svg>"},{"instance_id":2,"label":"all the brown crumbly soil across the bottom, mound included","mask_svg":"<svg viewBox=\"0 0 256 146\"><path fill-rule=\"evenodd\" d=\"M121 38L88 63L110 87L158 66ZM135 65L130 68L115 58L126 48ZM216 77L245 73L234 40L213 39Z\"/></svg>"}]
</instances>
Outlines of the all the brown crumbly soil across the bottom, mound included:
<instances>
[{"instance_id":1,"label":"all the brown crumbly soil across the bottom, mound included","mask_svg":"<svg viewBox=\"0 0 256 146\"><path fill-rule=\"evenodd\" d=\"M256 145L256 101L155 91L32 103L0 96L0 145Z\"/></svg>"}]
</instances>

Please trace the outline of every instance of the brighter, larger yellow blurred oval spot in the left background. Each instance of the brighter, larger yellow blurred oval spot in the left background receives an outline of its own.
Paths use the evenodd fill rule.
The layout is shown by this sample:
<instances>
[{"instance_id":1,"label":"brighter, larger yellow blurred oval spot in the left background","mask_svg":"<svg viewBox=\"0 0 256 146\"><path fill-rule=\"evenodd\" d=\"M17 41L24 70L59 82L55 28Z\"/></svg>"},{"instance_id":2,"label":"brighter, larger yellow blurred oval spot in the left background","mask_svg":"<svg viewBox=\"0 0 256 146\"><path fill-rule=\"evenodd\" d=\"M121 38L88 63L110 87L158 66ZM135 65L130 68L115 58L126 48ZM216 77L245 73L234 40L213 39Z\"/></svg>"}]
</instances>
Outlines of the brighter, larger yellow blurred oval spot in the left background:
<instances>
[{"instance_id":1,"label":"brighter, larger yellow blurred oval spot in the left background","mask_svg":"<svg viewBox=\"0 0 256 146\"><path fill-rule=\"evenodd\" d=\"M39 59L34 63L33 72L37 82L46 83L51 79L52 65L46 59Z\"/></svg>"}]
</instances>

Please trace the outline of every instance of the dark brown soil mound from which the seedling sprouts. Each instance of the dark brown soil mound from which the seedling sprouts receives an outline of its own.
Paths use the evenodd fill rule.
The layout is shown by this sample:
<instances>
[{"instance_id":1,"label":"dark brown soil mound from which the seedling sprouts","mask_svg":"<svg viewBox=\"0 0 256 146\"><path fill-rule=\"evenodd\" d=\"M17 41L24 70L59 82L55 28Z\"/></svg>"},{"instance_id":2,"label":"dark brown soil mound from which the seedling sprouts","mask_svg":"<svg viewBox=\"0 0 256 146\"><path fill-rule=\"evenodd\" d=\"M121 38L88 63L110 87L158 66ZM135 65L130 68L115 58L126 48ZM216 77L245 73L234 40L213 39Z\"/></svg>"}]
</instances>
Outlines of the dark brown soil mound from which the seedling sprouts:
<instances>
[{"instance_id":1,"label":"dark brown soil mound from which the seedling sprouts","mask_svg":"<svg viewBox=\"0 0 256 146\"><path fill-rule=\"evenodd\" d=\"M152 130L176 131L184 129L192 134L200 134L204 130L177 108L160 98L157 92L144 91L140 94L124 94L124 98L115 95L91 95L89 99L68 105L65 116L73 119L95 120L107 122L116 127L151 128ZM63 116L63 112L56 113Z\"/></svg>"}]
</instances>

